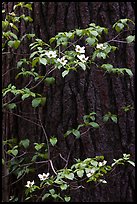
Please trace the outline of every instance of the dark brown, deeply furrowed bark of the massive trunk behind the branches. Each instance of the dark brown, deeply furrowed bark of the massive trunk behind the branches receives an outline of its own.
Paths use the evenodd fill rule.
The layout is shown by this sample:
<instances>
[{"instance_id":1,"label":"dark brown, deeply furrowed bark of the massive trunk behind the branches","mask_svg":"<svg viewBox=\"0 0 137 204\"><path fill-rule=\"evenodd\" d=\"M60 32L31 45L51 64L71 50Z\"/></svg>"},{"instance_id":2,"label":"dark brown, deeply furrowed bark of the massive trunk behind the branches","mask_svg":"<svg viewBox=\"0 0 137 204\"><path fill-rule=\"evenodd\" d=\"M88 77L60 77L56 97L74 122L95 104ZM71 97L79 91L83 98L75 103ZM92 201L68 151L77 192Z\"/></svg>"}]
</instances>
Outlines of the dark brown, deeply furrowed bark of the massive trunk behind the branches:
<instances>
[{"instance_id":1,"label":"dark brown, deeply furrowed bark of the massive trunk behind the branches","mask_svg":"<svg viewBox=\"0 0 137 204\"><path fill-rule=\"evenodd\" d=\"M7 8L12 10L14 2L9 2ZM75 28L86 28L89 23L110 28L109 38L114 37L112 25L120 18L134 20L134 2L35 2L33 4L32 18L34 23L27 27L28 31L35 32L45 41L57 32L69 31ZM25 25L21 26L24 33ZM21 33L20 33L21 34ZM10 66L16 66L15 61L22 58L20 53L28 53L28 46L20 48L18 55L4 56L3 72ZM134 45L120 44L120 49L109 61L114 67L129 67L135 72ZM44 70L40 71L44 72ZM12 71L3 80L3 84L13 81L15 73ZM127 113L122 111L126 105L134 106L134 77L117 77L105 75L92 66L90 70L71 72L65 79L59 71L53 76L56 84L52 86L41 85L37 91L47 97L45 107L34 111L28 102L20 105L16 114L26 116L29 113L33 121L38 116L46 127L47 135L58 138L58 148L51 150L51 156L61 152L67 157L73 137L64 138L63 134L71 128L76 128L82 122L82 117L92 111L97 114L98 130L91 129L74 143L69 163L75 158L85 159L96 155L104 155L108 162L118 158L122 153L130 153L134 159L134 110ZM16 82L19 83L20 82ZM25 84L26 82L21 82ZM102 117L108 111L118 115L118 124L104 125ZM45 137L41 128L9 113L3 116L3 137L18 139L30 138L32 142L44 142ZM54 162L56 168L64 166L63 160L58 157ZM86 189L77 189L72 194L73 202L133 202L135 196L133 168L124 166L118 168L107 180L107 185L96 187L87 186ZM15 186L17 188L17 186ZM19 189L16 189L21 194Z\"/></svg>"}]
</instances>

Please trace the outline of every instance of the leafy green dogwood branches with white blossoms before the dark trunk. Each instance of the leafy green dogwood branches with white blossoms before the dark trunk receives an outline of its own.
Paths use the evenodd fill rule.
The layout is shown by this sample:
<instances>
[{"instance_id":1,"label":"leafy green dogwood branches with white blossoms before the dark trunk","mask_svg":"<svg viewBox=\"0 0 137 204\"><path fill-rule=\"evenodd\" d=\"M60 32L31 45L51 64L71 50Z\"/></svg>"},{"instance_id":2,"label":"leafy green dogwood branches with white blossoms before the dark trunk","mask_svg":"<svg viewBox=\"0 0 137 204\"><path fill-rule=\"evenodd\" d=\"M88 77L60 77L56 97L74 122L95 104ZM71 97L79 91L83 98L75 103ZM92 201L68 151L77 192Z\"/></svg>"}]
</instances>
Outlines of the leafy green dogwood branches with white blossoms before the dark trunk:
<instances>
[{"instance_id":1,"label":"leafy green dogwood branches with white blossoms before the dark trunk","mask_svg":"<svg viewBox=\"0 0 137 204\"><path fill-rule=\"evenodd\" d=\"M18 70L16 80L23 76L24 78L28 78L29 82L20 89L12 83L3 88L3 113L13 114L40 127L45 136L46 143L34 143L34 151L30 152L28 150L30 146L29 139L21 140L19 143L14 139L3 141L3 154L8 155L9 158L6 160L4 159L6 157L4 157L2 160L4 167L7 168L8 166L7 172L9 172L8 174L5 173L3 178L14 174L17 180L11 184L13 185L24 179L27 175L30 175L32 169L35 170L35 167L31 168L34 164L38 165L37 170L39 172L41 172L41 165L48 165L45 172L37 175L39 180L36 178L36 180L33 179L26 182L25 201L39 202L47 201L50 198L57 201L69 202L71 200L69 195L71 189L86 188L87 182L94 182L95 185L100 183L107 184L108 172L114 171L117 165L129 163L135 166L134 162L130 160L130 154L123 154L122 158L114 159L111 165L107 164L108 162L104 159L104 156L96 156L95 158L86 158L83 161L75 159L76 163L69 167L69 157L74 148L74 143L66 156L67 159L61 153L55 158L51 158L50 145L56 147L58 139L55 136L49 138L41 118L34 122L29 118L14 113L14 110L18 104L24 104L28 98L32 100L31 105L33 108L36 109L44 106L46 97L43 97L42 93L37 93L34 90L41 83L46 83L50 86L53 85L56 79L51 74L55 70L58 70L61 76L65 78L71 71L78 72L80 69L86 71L87 69L91 69L91 65L94 64L97 69L103 70L105 74L116 74L118 76L127 74L129 77L132 77L133 73L131 69L113 67L112 64L102 64L102 61L108 59L110 53L118 50L118 47L111 45L111 42L132 43L135 40L134 35L127 36L125 41L123 39L117 39L125 32L125 28L129 29L128 24L131 23L134 25L134 22L130 19L118 20L112 26L112 29L115 29L118 34L106 42L102 42L102 34L108 35L108 29L98 26L95 23L90 23L89 27L85 29L59 32L47 44L42 39L38 39L35 34L25 34L21 39L18 39L18 36L14 33L14 31L19 32L17 24L22 20L25 22L33 21L30 16L16 16L16 9L18 7L31 11L32 2L27 4L25 2L18 2L13 8L13 12L9 14L5 14L5 10L2 10L2 13L5 14L5 19L2 21L2 54L9 55L12 52L13 54L26 56L26 58L22 58L17 62L17 66L15 67ZM24 38L33 41L29 43L31 54L15 53L14 50L17 50L21 43L23 44ZM7 47L8 50L6 50ZM91 49L92 53L88 53L87 47ZM3 77L10 71L13 71L13 69L4 73ZM45 75L39 75L39 69L44 69ZM9 96L11 97L10 100ZM17 101L18 98L19 100ZM110 112L108 113L104 116L104 122L107 122L110 118L112 122L117 123L117 116ZM75 142L81 136L85 135L90 128L99 128L100 125L96 122L95 115L95 112L85 115L83 117L84 123L78 125L76 129L66 131L64 137L73 135ZM87 128L84 132L83 127ZM56 170L54 159L57 159L58 156L66 164L64 168ZM49 169L49 172L47 172L47 169Z\"/></svg>"}]
</instances>

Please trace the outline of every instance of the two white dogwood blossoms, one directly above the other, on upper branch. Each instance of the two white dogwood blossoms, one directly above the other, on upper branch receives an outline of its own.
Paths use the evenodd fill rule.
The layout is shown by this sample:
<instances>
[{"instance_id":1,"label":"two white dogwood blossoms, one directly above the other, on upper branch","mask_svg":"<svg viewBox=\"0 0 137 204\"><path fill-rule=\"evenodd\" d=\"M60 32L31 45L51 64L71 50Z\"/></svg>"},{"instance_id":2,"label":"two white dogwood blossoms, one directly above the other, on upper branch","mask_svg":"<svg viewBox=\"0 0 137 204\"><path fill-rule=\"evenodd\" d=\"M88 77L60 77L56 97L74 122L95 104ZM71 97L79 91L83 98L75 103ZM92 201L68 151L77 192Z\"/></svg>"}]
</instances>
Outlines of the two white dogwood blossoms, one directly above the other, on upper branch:
<instances>
[{"instance_id":1,"label":"two white dogwood blossoms, one directly above the other, on upper branch","mask_svg":"<svg viewBox=\"0 0 137 204\"><path fill-rule=\"evenodd\" d=\"M77 57L83 63L85 63L89 57L85 56L85 47L80 47L80 45L76 45L75 51L78 53Z\"/></svg>"}]
</instances>

